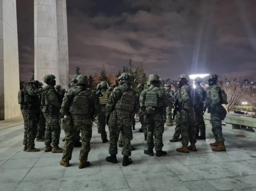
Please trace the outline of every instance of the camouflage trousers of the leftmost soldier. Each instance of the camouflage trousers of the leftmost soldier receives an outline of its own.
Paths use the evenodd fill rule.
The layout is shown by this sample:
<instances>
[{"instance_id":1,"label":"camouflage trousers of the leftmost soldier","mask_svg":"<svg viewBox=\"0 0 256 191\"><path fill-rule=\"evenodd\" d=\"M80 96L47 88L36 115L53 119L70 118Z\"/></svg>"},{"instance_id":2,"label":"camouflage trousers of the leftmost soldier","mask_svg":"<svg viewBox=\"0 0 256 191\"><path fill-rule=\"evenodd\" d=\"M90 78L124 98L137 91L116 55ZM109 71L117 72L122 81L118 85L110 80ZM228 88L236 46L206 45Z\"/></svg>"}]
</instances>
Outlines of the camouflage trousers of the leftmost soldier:
<instances>
[{"instance_id":1,"label":"camouflage trousers of the leftmost soldier","mask_svg":"<svg viewBox=\"0 0 256 191\"><path fill-rule=\"evenodd\" d=\"M37 131L37 113L36 111L21 110L24 120L24 139L23 145L28 148L35 147L35 137Z\"/></svg>"}]
</instances>

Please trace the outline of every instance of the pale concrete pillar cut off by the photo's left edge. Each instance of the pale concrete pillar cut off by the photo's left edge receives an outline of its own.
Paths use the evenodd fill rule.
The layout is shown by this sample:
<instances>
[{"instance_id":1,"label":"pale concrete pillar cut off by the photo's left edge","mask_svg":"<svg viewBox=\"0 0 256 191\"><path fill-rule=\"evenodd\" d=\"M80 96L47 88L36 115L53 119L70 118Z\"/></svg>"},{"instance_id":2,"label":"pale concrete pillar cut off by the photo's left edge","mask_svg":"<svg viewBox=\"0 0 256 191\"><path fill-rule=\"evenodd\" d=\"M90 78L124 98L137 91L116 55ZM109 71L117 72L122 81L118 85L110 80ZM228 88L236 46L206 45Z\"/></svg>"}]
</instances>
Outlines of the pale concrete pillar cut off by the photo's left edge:
<instances>
[{"instance_id":1,"label":"pale concrete pillar cut off by the photo's left edge","mask_svg":"<svg viewBox=\"0 0 256 191\"><path fill-rule=\"evenodd\" d=\"M16 0L0 0L0 120L20 116Z\"/></svg>"}]
</instances>

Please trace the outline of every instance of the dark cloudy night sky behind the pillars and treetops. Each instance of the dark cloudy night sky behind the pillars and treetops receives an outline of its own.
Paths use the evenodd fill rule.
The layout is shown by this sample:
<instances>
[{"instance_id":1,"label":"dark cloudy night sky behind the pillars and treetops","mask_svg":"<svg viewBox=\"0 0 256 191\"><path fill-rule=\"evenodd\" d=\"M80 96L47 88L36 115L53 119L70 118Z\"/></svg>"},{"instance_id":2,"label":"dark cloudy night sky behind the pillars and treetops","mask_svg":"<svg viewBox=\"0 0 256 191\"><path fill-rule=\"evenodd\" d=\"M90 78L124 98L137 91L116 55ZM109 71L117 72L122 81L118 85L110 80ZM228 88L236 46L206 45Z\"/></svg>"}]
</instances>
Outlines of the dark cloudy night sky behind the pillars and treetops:
<instances>
[{"instance_id":1,"label":"dark cloudy night sky behind the pillars and treetops","mask_svg":"<svg viewBox=\"0 0 256 191\"><path fill-rule=\"evenodd\" d=\"M34 0L17 0L20 77L34 67ZM69 76L129 59L162 79L181 73L256 80L255 0L67 0Z\"/></svg>"}]
</instances>

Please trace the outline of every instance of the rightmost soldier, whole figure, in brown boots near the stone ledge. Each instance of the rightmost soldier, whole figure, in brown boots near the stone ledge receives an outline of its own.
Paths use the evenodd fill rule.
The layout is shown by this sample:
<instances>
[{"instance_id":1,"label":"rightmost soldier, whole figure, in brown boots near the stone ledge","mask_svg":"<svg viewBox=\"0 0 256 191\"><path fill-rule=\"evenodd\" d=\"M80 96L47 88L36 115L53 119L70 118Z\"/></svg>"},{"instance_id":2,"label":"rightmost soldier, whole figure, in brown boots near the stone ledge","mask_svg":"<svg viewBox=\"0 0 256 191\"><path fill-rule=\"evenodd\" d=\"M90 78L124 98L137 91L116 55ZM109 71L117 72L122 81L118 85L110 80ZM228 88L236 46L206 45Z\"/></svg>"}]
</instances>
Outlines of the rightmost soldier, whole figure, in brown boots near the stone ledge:
<instances>
[{"instance_id":1,"label":"rightmost soldier, whole figure, in brown boots near the stone ledge","mask_svg":"<svg viewBox=\"0 0 256 191\"><path fill-rule=\"evenodd\" d=\"M210 146L215 147L212 149L213 151L226 151L224 145L225 139L222 134L221 118L223 118L223 113L227 113L221 103L222 101L227 102L227 100L221 100L221 88L217 85L217 80L218 76L216 74L212 75L208 80L210 91L205 108L208 108L208 112L211 113L211 130L215 137L215 142L210 143Z\"/></svg>"}]
</instances>

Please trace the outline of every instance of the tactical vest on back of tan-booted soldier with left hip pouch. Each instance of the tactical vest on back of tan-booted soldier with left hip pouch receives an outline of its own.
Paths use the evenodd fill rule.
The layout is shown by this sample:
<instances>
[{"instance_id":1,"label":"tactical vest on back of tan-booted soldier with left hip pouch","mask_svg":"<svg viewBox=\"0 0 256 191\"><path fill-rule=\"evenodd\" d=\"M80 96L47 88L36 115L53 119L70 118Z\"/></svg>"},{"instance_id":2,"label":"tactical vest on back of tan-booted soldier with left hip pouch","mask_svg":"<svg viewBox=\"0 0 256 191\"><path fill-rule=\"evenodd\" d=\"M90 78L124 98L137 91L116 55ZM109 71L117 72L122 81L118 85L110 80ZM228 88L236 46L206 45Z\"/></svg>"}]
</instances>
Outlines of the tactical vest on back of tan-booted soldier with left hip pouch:
<instances>
[{"instance_id":1,"label":"tactical vest on back of tan-booted soldier with left hip pouch","mask_svg":"<svg viewBox=\"0 0 256 191\"><path fill-rule=\"evenodd\" d=\"M89 103L90 103L90 90L82 90L76 94L70 105L69 112L72 115L89 115L91 114ZM91 103L90 103L91 104Z\"/></svg>"}]
</instances>

